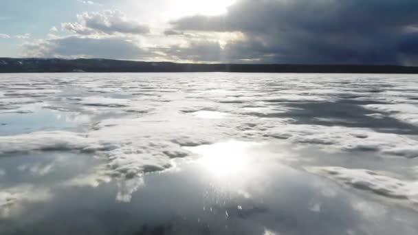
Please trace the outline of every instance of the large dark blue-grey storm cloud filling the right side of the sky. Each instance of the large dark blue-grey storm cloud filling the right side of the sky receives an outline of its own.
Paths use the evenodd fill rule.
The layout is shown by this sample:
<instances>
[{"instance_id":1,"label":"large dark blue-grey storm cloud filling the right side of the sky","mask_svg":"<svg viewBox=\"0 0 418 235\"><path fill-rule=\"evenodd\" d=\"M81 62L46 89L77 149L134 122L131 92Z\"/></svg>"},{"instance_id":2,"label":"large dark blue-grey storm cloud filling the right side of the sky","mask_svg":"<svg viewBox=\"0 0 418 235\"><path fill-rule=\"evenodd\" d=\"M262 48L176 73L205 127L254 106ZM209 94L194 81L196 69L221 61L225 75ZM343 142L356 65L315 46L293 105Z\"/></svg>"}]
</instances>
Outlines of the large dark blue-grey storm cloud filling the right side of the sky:
<instances>
[{"instance_id":1,"label":"large dark blue-grey storm cloud filling the right side of the sky","mask_svg":"<svg viewBox=\"0 0 418 235\"><path fill-rule=\"evenodd\" d=\"M402 64L417 57L415 0L239 0L221 16L190 16L172 30L243 32L227 60Z\"/></svg>"}]
</instances>

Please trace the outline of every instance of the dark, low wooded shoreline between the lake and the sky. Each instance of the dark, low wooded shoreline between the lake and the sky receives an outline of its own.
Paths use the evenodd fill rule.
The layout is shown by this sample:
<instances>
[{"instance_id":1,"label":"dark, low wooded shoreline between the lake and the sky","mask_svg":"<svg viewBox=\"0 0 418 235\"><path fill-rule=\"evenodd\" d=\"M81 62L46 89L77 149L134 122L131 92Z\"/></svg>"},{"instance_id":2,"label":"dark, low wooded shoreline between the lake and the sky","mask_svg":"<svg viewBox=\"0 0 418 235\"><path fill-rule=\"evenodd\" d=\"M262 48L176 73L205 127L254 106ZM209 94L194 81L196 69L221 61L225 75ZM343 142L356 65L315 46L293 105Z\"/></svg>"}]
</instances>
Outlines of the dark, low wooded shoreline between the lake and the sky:
<instances>
[{"instance_id":1,"label":"dark, low wooded shoreline between the lake and the sky","mask_svg":"<svg viewBox=\"0 0 418 235\"><path fill-rule=\"evenodd\" d=\"M418 67L397 65L188 64L109 59L0 58L0 73L318 73L418 74Z\"/></svg>"}]
</instances>

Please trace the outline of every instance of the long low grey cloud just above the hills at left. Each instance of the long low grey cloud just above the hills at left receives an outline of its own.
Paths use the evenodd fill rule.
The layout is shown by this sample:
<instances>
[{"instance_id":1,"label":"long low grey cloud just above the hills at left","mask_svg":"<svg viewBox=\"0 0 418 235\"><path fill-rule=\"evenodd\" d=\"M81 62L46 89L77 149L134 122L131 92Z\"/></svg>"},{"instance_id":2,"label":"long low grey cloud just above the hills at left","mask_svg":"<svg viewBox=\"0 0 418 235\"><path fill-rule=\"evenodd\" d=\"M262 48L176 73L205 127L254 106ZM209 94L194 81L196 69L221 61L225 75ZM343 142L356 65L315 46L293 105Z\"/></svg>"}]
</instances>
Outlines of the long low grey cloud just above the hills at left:
<instances>
[{"instance_id":1,"label":"long low grey cloud just above the hills at left","mask_svg":"<svg viewBox=\"0 0 418 235\"><path fill-rule=\"evenodd\" d=\"M56 38L25 45L25 49L36 57L87 57L137 59L152 56L152 53L141 49L123 38Z\"/></svg>"}]
</instances>

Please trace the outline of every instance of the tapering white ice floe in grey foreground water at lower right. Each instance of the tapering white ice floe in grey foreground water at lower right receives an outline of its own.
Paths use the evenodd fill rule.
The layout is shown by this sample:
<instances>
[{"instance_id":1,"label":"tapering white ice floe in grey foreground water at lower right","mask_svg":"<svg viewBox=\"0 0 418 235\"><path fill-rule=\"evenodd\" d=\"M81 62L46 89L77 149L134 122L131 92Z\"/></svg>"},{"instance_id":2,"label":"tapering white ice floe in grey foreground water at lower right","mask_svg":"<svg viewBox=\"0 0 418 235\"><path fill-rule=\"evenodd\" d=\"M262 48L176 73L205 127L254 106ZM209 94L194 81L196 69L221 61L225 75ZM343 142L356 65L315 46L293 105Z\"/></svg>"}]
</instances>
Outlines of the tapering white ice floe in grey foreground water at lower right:
<instances>
[{"instance_id":1,"label":"tapering white ice floe in grey foreground water at lower right","mask_svg":"<svg viewBox=\"0 0 418 235\"><path fill-rule=\"evenodd\" d=\"M392 199L404 199L418 205L418 181L395 179L379 172L342 167L308 167L309 172L323 175L347 186L368 190Z\"/></svg>"}]
</instances>

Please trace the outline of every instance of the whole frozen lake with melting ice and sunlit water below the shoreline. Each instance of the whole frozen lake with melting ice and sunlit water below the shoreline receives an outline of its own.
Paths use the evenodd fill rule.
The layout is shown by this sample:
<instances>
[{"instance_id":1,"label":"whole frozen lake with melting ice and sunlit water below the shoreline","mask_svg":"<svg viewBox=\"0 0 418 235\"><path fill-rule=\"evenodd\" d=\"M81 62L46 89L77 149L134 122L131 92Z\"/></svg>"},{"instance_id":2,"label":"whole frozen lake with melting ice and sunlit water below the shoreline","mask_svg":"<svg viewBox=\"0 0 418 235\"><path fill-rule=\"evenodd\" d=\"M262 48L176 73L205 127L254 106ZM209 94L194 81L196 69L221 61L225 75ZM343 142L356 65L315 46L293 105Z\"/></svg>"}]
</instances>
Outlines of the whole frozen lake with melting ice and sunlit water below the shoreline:
<instances>
[{"instance_id":1,"label":"whole frozen lake with melting ice and sunlit water below the shoreline","mask_svg":"<svg viewBox=\"0 0 418 235\"><path fill-rule=\"evenodd\" d=\"M0 74L0 234L418 234L418 76Z\"/></svg>"}]
</instances>

